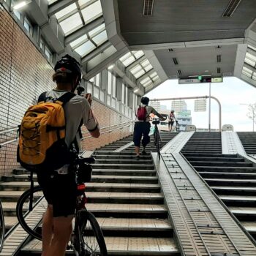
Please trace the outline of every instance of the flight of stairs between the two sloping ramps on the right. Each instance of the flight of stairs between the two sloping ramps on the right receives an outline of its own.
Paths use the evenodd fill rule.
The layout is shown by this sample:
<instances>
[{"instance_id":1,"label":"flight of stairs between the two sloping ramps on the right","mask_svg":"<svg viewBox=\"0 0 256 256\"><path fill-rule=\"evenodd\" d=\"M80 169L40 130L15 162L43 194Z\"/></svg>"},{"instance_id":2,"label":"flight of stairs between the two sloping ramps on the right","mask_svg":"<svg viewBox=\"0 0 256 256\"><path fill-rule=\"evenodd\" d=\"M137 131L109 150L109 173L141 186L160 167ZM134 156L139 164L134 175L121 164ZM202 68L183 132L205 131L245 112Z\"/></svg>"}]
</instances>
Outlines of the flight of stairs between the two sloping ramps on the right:
<instances>
[{"instance_id":1,"label":"flight of stairs between the two sloping ramps on the right","mask_svg":"<svg viewBox=\"0 0 256 256\"><path fill-rule=\"evenodd\" d=\"M182 154L244 228L256 238L256 167L236 154L221 154L217 143L220 134L203 135L201 139L200 135L196 135L195 138L193 135L189 146L187 143L182 149ZM211 143L214 143L212 148ZM197 148L195 152L190 150L193 144Z\"/></svg>"}]
</instances>

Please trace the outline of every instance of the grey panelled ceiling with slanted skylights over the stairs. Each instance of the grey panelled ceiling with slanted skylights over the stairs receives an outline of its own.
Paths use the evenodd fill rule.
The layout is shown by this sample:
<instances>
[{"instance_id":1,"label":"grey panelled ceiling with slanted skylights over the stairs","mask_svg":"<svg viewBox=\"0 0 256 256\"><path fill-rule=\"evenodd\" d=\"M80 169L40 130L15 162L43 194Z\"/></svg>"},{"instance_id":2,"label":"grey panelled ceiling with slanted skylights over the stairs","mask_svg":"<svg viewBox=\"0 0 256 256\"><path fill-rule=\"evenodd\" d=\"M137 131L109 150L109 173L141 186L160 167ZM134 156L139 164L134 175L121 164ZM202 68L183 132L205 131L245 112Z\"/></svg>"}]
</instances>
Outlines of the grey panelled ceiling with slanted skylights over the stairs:
<instances>
[{"instance_id":1,"label":"grey panelled ceiling with slanted skylights over the stairs","mask_svg":"<svg viewBox=\"0 0 256 256\"><path fill-rule=\"evenodd\" d=\"M86 78L113 66L139 95L193 75L256 86L254 0L41 0L24 12L52 53L80 59Z\"/></svg>"}]
</instances>

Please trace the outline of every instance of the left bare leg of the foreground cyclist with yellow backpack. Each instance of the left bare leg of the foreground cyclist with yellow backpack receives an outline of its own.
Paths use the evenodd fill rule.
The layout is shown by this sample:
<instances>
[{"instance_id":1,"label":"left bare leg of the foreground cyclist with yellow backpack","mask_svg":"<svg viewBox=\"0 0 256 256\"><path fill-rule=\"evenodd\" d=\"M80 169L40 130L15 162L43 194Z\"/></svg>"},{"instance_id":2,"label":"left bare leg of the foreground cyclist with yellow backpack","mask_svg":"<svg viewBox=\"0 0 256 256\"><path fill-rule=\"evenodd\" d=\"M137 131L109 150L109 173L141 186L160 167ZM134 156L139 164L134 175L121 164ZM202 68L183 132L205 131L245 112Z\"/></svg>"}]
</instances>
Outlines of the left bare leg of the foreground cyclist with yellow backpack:
<instances>
[{"instance_id":1,"label":"left bare leg of the foreground cyclist with yellow backpack","mask_svg":"<svg viewBox=\"0 0 256 256\"><path fill-rule=\"evenodd\" d=\"M48 205L42 218L42 256L47 255L53 237L53 206Z\"/></svg>"}]
</instances>

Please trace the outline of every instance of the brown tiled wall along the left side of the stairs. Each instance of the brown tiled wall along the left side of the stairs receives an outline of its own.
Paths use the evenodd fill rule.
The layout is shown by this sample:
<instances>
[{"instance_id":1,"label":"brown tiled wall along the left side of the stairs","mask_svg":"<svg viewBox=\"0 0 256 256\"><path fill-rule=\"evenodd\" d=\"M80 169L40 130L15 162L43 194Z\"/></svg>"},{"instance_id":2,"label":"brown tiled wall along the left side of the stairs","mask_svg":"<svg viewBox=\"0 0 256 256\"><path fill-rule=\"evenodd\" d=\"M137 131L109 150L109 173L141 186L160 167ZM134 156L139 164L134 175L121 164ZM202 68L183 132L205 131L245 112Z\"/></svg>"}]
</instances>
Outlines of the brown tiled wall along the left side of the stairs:
<instances>
[{"instance_id":1,"label":"brown tiled wall along the left side of the stairs","mask_svg":"<svg viewBox=\"0 0 256 256\"><path fill-rule=\"evenodd\" d=\"M0 131L17 127L25 110L42 91L52 89L52 67L34 47L26 34L0 4ZM129 120L99 102L93 102L95 116L102 127ZM102 135L100 139L83 140L84 149L99 148L128 135L129 129ZM0 143L15 138L15 132L0 134ZM0 176L19 165L16 162L17 143L0 148Z\"/></svg>"}]
</instances>

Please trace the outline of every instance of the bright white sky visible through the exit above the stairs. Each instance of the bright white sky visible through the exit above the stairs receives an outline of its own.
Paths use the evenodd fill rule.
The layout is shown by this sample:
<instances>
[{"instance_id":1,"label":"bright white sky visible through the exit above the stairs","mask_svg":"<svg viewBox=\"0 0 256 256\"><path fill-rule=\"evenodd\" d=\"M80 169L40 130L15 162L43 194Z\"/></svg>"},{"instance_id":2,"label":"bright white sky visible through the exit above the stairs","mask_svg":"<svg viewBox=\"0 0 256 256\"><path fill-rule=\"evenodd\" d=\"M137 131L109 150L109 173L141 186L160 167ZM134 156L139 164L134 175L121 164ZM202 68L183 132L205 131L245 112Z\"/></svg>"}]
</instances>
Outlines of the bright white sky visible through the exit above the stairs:
<instances>
[{"instance_id":1,"label":"bright white sky visible through the exit above the stairs","mask_svg":"<svg viewBox=\"0 0 256 256\"><path fill-rule=\"evenodd\" d=\"M206 95L209 95L209 83L178 84L178 79L175 79L166 80L156 89L146 94L146 97L160 99ZM252 119L247 116L249 112L247 105L256 103L255 87L235 77L223 78L223 83L211 83L211 96L219 99L222 105L222 125L232 124L236 132L252 132ZM194 111L195 99L186 99L185 102L187 103L187 109L191 110L192 124L195 124L197 128L208 128L208 99L206 99L206 112ZM171 101L162 101L161 105L166 105L167 109L170 109ZM214 99L211 99L211 129L218 128L219 106Z\"/></svg>"}]
</instances>

